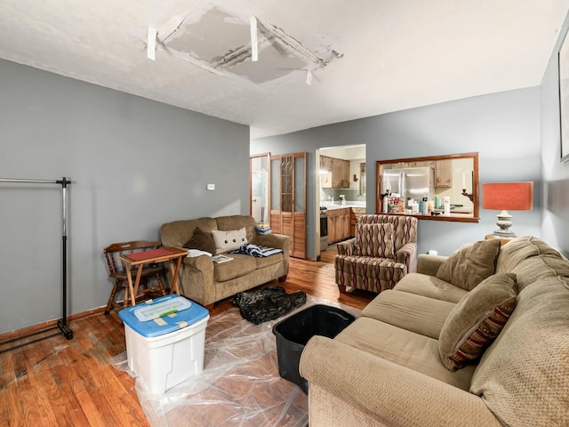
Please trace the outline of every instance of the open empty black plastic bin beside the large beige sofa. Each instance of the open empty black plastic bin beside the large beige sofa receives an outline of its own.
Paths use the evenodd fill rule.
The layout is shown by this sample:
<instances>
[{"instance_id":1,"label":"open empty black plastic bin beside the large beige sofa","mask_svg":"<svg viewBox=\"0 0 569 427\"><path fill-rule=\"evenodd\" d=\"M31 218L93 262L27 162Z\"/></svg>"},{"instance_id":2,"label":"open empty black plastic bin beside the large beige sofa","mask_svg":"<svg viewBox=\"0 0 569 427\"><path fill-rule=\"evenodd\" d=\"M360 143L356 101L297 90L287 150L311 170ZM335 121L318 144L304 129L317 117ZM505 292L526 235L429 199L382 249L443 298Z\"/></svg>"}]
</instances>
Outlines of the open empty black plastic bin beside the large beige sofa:
<instances>
[{"instance_id":1,"label":"open empty black plastic bin beside the large beige sofa","mask_svg":"<svg viewBox=\"0 0 569 427\"><path fill-rule=\"evenodd\" d=\"M344 310L317 304L301 310L273 326L276 336L278 373L309 392L309 383L299 373L301 353L314 335L333 338L356 318Z\"/></svg>"}]
</instances>

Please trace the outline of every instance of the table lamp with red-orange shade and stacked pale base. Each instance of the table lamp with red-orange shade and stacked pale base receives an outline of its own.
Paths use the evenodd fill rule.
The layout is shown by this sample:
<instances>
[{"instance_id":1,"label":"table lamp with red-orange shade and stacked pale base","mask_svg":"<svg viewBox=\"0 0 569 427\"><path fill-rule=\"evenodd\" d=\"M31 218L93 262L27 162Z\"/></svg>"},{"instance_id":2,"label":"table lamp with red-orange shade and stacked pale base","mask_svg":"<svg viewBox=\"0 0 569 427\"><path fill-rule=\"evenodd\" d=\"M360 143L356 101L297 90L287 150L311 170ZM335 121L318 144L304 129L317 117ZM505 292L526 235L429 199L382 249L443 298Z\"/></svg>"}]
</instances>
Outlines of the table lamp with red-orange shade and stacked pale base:
<instances>
[{"instance_id":1,"label":"table lamp with red-orange shade and stacked pale base","mask_svg":"<svg viewBox=\"0 0 569 427\"><path fill-rule=\"evenodd\" d=\"M533 181L526 182L486 182L482 184L482 207L501 211L497 214L498 230L493 236L516 238L512 225L512 215L508 211L531 211L533 209Z\"/></svg>"}]
</instances>

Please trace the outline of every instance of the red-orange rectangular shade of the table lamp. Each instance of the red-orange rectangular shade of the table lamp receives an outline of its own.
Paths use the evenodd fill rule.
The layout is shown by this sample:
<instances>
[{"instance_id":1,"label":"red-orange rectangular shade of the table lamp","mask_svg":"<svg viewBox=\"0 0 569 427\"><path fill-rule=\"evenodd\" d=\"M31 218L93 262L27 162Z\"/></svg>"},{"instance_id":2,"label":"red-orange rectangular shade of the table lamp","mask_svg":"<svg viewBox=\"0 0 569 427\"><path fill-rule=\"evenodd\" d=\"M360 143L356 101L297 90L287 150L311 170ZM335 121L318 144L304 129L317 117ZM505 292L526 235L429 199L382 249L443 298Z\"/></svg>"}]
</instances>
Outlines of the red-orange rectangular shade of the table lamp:
<instances>
[{"instance_id":1,"label":"red-orange rectangular shade of the table lamp","mask_svg":"<svg viewBox=\"0 0 569 427\"><path fill-rule=\"evenodd\" d=\"M483 183L482 207L499 211L531 211L533 182Z\"/></svg>"}]
</instances>

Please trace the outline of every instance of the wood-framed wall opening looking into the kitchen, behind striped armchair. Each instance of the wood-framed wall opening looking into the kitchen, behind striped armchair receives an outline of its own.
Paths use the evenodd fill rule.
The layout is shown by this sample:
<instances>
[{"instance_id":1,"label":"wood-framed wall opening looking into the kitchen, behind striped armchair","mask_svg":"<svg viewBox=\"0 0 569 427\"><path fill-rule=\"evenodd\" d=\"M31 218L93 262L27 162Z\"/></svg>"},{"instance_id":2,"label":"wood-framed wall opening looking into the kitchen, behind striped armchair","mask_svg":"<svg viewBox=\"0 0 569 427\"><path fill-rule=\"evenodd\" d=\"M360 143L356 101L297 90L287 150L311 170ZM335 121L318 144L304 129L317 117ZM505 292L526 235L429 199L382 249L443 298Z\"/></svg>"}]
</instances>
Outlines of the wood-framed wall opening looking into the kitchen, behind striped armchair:
<instances>
[{"instance_id":1,"label":"wood-framed wall opening looking into the kitchen, behind striped armchair","mask_svg":"<svg viewBox=\"0 0 569 427\"><path fill-rule=\"evenodd\" d=\"M375 212L478 222L478 153L397 158L376 164Z\"/></svg>"}]
</instances>

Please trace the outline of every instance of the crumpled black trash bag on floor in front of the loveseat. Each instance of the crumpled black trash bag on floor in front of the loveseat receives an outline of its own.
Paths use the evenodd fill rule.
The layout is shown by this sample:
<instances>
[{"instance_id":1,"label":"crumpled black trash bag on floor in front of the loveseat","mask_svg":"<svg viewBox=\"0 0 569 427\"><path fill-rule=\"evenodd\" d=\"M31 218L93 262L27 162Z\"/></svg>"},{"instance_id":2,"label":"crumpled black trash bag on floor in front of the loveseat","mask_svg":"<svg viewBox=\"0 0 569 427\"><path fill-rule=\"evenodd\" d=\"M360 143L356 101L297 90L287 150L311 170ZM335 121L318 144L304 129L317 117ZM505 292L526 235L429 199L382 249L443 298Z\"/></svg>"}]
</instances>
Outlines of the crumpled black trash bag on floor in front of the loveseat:
<instances>
[{"instance_id":1,"label":"crumpled black trash bag on floor in front of the loveseat","mask_svg":"<svg viewBox=\"0 0 569 427\"><path fill-rule=\"evenodd\" d=\"M304 292L286 294L281 286L268 286L252 293L240 292L233 298L233 305L239 307L241 316L255 325L283 316L304 303Z\"/></svg>"}]
</instances>

